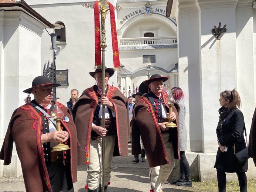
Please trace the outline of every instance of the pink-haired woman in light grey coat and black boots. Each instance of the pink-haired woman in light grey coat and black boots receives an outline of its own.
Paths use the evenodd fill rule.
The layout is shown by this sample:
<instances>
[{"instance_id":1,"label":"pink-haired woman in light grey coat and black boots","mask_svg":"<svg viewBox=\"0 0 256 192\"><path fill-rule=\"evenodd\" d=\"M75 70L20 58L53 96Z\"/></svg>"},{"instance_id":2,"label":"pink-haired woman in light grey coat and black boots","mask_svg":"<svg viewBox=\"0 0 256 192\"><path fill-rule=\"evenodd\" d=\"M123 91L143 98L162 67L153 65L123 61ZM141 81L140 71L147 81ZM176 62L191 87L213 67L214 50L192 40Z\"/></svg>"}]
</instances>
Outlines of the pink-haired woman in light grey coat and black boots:
<instances>
[{"instance_id":1,"label":"pink-haired woman in light grey coat and black boots","mask_svg":"<svg viewBox=\"0 0 256 192\"><path fill-rule=\"evenodd\" d=\"M185 155L185 150L187 150L187 129L185 126L185 115L186 109L184 100L184 94L181 88L174 87L171 89L171 94L177 103L180 105L179 112L179 132L180 132L180 177L172 184L179 186L190 186L192 187L191 175L190 175L190 165Z\"/></svg>"}]
</instances>

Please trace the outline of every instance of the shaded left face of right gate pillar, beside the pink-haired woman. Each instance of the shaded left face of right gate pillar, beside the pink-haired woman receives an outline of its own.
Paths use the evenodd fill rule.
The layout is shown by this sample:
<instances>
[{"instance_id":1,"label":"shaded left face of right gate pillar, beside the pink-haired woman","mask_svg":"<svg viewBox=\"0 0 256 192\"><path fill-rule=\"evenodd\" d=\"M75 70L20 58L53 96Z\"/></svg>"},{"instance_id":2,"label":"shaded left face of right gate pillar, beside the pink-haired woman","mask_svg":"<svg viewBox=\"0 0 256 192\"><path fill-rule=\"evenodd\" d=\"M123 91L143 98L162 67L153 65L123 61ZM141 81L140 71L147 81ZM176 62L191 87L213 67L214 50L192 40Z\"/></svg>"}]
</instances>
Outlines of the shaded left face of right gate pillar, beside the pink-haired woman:
<instances>
[{"instance_id":1,"label":"shaded left face of right gate pillar, beside the pink-haired woman","mask_svg":"<svg viewBox=\"0 0 256 192\"><path fill-rule=\"evenodd\" d=\"M199 65L199 11L197 0L179 0L178 74L186 105L188 150L202 151L201 73Z\"/></svg>"}]
</instances>

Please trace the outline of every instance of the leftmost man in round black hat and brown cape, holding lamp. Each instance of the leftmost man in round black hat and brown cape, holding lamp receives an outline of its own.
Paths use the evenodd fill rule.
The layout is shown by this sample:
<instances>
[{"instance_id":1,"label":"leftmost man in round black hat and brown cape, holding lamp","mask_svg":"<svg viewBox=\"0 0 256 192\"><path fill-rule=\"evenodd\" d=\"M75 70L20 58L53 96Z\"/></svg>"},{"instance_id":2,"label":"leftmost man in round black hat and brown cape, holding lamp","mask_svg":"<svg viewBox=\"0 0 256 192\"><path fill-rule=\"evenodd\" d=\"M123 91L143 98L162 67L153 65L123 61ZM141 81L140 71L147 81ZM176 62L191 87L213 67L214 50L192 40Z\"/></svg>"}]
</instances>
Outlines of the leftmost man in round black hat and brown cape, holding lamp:
<instances>
[{"instance_id":1,"label":"leftmost man in round black hat and brown cape, holding lamp","mask_svg":"<svg viewBox=\"0 0 256 192\"><path fill-rule=\"evenodd\" d=\"M32 87L23 91L32 93L35 99L14 111L0 152L4 165L9 165L15 142L28 192L72 192L77 181L76 128L69 109L52 101L52 88L57 86L61 85L38 76ZM61 131L56 130L56 122L50 116L54 105L64 113ZM51 152L58 142L71 149Z\"/></svg>"}]
</instances>

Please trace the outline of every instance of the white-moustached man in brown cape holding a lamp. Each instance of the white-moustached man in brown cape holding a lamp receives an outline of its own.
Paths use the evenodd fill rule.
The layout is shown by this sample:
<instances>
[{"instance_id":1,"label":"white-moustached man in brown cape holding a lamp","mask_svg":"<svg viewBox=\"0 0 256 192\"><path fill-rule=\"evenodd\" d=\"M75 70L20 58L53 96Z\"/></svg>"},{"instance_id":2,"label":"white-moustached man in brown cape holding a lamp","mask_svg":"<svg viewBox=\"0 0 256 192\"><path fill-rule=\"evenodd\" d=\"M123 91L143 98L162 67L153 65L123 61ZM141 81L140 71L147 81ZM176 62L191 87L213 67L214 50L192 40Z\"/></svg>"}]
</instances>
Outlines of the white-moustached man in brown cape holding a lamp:
<instances>
[{"instance_id":1,"label":"white-moustached man in brown cape holding a lamp","mask_svg":"<svg viewBox=\"0 0 256 192\"><path fill-rule=\"evenodd\" d=\"M151 90L141 96L133 112L132 154L141 154L141 137L149 162L153 192L162 191L161 186L174 168L174 159L180 158L178 128L165 127L168 123L166 117L178 123L178 113L174 106L173 112L168 114L167 93L163 91L163 82L168 79L154 74L145 80L144 84Z\"/></svg>"}]
</instances>

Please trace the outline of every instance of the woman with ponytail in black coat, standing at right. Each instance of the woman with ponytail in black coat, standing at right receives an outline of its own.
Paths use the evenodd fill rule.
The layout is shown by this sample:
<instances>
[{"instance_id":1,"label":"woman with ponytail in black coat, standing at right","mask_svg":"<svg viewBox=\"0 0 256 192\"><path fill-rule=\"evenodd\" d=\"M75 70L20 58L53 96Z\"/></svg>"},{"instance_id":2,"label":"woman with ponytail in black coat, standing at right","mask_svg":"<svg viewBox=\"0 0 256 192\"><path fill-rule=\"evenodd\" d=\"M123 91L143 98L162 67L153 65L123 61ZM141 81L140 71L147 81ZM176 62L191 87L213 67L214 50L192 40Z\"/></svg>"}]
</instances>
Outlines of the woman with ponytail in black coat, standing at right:
<instances>
[{"instance_id":1,"label":"woman with ponytail in black coat, standing at right","mask_svg":"<svg viewBox=\"0 0 256 192\"><path fill-rule=\"evenodd\" d=\"M248 170L248 161L239 164L234 155L246 147L243 137L245 121L243 113L237 108L240 107L241 100L236 90L223 91L220 96L220 117L216 129L219 148L214 165L217 169L219 192L226 191L226 172L235 172L238 175L240 192L247 192L245 172Z\"/></svg>"}]
</instances>

